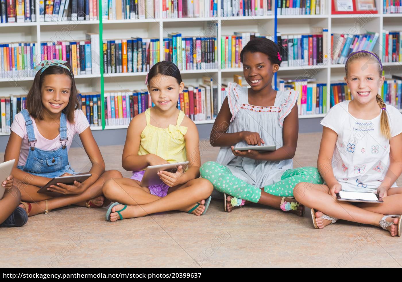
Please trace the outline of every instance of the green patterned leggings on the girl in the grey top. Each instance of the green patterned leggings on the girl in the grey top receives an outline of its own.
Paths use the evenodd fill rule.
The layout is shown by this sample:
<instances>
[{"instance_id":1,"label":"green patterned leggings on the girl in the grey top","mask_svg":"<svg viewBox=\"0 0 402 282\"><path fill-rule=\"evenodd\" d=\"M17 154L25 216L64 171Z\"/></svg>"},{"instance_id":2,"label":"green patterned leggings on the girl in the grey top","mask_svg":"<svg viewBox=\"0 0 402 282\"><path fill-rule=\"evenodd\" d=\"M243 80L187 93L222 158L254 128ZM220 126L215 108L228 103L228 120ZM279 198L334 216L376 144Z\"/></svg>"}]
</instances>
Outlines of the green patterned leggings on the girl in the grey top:
<instances>
[{"instance_id":1,"label":"green patterned leggings on the girl in the grey top","mask_svg":"<svg viewBox=\"0 0 402 282\"><path fill-rule=\"evenodd\" d=\"M237 178L226 166L220 163L207 161L201 166L200 173L201 177L209 180L213 188L219 192L254 203L260 200L260 187L252 186ZM275 196L293 197L293 188L300 182L323 184L317 168L295 168L286 170L281 176L281 181L265 186L264 191Z\"/></svg>"}]
</instances>

